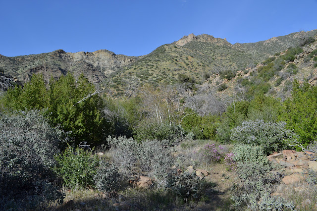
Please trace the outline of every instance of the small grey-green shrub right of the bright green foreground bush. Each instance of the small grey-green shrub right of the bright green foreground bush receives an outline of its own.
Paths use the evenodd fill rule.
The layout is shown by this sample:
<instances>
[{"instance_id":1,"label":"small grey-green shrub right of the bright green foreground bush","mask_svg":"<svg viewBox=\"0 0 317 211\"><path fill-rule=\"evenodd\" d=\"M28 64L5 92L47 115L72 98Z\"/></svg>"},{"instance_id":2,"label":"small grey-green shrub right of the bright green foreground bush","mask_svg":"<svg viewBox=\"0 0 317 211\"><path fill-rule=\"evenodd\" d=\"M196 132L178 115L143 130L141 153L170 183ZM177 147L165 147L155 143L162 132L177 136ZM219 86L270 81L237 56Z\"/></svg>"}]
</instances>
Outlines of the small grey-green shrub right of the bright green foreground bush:
<instances>
[{"instance_id":1,"label":"small grey-green shrub right of the bright green foreground bush","mask_svg":"<svg viewBox=\"0 0 317 211\"><path fill-rule=\"evenodd\" d=\"M103 192L114 191L118 186L118 180L118 168L114 164L100 160L99 167L94 176L96 188Z\"/></svg>"}]
</instances>

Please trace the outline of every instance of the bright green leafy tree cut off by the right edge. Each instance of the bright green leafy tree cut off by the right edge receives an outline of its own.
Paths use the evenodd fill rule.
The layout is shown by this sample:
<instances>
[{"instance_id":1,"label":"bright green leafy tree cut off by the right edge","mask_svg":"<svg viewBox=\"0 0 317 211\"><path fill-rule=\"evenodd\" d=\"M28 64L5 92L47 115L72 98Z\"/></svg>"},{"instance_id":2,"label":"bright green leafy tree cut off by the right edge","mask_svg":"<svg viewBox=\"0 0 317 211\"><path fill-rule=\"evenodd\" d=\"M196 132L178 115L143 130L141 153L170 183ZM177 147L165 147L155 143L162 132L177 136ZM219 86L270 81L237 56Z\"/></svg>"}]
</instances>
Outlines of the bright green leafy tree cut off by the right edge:
<instances>
[{"instance_id":1,"label":"bright green leafy tree cut off by the right edge","mask_svg":"<svg viewBox=\"0 0 317 211\"><path fill-rule=\"evenodd\" d=\"M304 106L305 105L305 106ZM317 87L308 82L293 84L292 97L283 104L280 120L287 122L287 128L299 135L303 146L317 137Z\"/></svg>"}]
</instances>

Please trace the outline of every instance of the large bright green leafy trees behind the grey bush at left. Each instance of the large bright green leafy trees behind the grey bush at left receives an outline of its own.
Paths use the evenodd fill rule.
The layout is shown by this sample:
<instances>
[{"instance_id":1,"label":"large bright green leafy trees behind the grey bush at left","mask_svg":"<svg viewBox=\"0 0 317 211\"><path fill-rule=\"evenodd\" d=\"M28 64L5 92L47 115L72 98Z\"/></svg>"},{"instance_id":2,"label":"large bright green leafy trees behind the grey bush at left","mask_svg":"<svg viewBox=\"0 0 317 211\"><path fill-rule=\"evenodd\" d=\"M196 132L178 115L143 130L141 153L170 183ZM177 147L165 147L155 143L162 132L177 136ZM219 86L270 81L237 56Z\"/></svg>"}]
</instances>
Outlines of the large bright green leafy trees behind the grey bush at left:
<instances>
[{"instance_id":1,"label":"large bright green leafy trees behind the grey bush at left","mask_svg":"<svg viewBox=\"0 0 317 211\"><path fill-rule=\"evenodd\" d=\"M95 143L106 132L103 101L98 95L93 95L79 103L94 91L94 85L83 75L78 80L71 74L58 80L52 78L49 85L45 84L42 75L33 75L24 88L8 90L3 104L13 110L46 108L44 115L50 124L68 132L71 140Z\"/></svg>"}]
</instances>

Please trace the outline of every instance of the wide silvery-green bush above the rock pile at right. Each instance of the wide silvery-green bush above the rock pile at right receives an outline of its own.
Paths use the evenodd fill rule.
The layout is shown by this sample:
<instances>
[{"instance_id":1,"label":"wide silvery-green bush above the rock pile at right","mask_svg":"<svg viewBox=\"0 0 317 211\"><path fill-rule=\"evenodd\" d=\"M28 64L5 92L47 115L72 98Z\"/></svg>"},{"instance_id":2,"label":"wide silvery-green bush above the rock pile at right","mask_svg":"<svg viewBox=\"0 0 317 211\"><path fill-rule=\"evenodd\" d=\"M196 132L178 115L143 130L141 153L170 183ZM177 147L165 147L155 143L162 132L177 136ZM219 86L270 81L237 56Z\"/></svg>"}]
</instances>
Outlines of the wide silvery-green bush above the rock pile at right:
<instances>
[{"instance_id":1,"label":"wide silvery-green bush above the rock pile at right","mask_svg":"<svg viewBox=\"0 0 317 211\"><path fill-rule=\"evenodd\" d=\"M285 128L286 122L244 121L242 126L231 130L231 140L239 144L253 144L264 148L265 154L286 147L286 140L296 138Z\"/></svg>"}]
</instances>

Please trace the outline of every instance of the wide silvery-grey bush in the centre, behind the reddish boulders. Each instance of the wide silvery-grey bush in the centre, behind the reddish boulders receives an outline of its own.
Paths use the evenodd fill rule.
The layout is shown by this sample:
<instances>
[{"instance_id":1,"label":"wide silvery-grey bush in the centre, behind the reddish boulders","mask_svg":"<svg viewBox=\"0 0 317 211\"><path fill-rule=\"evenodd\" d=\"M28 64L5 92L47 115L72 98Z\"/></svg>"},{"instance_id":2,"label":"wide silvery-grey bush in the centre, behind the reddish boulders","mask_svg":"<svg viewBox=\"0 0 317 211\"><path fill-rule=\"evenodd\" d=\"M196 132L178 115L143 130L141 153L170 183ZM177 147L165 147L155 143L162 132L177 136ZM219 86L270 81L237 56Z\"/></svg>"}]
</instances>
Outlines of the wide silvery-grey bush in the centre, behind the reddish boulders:
<instances>
[{"instance_id":1,"label":"wide silvery-grey bush in the centre, behind the reddish boulders","mask_svg":"<svg viewBox=\"0 0 317 211\"><path fill-rule=\"evenodd\" d=\"M167 141L147 140L138 143L132 138L111 138L110 153L114 163L124 176L147 173L158 181L159 186L166 186L167 173L173 165Z\"/></svg>"}]
</instances>

